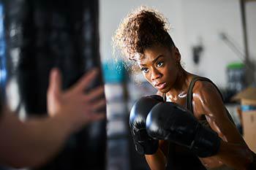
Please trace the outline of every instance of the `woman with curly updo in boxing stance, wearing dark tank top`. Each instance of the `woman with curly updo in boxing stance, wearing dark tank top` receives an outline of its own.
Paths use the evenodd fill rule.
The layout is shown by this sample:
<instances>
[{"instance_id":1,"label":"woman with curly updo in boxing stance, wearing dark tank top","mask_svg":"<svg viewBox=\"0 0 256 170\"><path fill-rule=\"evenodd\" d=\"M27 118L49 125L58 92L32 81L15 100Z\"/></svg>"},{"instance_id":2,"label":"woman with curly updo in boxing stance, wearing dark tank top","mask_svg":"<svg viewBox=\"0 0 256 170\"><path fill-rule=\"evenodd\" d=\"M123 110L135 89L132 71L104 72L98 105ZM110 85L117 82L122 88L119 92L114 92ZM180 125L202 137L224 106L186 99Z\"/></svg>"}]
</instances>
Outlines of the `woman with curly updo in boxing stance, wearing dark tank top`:
<instances>
[{"instance_id":1,"label":"woman with curly updo in boxing stance, wearing dark tank top","mask_svg":"<svg viewBox=\"0 0 256 170\"><path fill-rule=\"evenodd\" d=\"M146 127L135 130L138 128L136 125L148 124L146 115L143 113L143 119L140 115L137 120L136 116L138 112L148 114L148 110L141 107L151 108L154 102L146 106L152 104L151 100L161 102L161 99L156 96L143 98L141 102L144 103L132 109L130 125L136 150L142 150L151 169L253 169L255 154L238 133L219 90L211 80L189 73L181 66L181 54L167 32L167 20L159 12L146 7L131 12L121 22L113 41L126 58L135 61L146 80L157 88L158 95L163 96L165 101L187 107L200 124L208 126L219 136L217 151L206 158L198 157L178 142L159 138L158 144L155 144L151 136L140 131ZM156 146L157 149L154 149Z\"/></svg>"}]
</instances>

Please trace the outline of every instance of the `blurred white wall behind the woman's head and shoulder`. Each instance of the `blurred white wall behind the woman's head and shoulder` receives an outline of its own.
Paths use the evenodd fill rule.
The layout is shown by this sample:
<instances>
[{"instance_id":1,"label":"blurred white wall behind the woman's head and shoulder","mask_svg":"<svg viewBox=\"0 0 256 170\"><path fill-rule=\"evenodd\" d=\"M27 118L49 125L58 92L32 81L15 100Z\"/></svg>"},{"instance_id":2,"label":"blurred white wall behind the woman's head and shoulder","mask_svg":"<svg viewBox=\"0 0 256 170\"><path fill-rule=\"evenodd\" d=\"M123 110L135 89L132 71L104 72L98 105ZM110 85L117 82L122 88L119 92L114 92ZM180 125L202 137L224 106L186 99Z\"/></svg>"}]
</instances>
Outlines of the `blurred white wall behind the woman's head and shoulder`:
<instances>
[{"instance_id":1,"label":"blurred white wall behind the woman's head and shoulder","mask_svg":"<svg viewBox=\"0 0 256 170\"><path fill-rule=\"evenodd\" d=\"M154 7L162 12L171 24L170 35L179 48L185 68L217 83L225 88L227 83L225 67L227 63L241 61L236 53L219 38L225 32L241 50L244 49L241 27L241 12L238 0L101 0L100 2L100 49L102 60L112 58L111 36L121 19L135 7L142 4ZM252 36L255 32L255 2L246 4L249 9L248 23L252 24ZM249 21L250 20L250 21ZM201 39L204 46L199 66L192 61L193 45ZM256 38L249 40L250 49L255 50ZM255 51L250 51L256 56Z\"/></svg>"}]
</instances>

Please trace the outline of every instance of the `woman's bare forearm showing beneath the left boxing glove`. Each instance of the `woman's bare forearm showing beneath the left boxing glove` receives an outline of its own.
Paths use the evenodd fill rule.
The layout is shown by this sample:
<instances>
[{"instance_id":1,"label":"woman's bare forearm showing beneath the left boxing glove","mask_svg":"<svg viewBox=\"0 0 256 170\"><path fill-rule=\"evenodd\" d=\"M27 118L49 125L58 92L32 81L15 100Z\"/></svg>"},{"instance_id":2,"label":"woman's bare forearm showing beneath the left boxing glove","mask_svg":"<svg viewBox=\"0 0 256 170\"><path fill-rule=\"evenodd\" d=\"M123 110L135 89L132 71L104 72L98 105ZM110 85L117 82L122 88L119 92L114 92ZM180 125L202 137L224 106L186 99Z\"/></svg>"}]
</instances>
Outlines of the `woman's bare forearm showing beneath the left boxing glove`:
<instances>
[{"instance_id":1,"label":"woman's bare forearm showing beneath the left boxing glove","mask_svg":"<svg viewBox=\"0 0 256 170\"><path fill-rule=\"evenodd\" d=\"M151 170L164 170L167 159L162 150L158 149L153 155L145 155L148 166Z\"/></svg>"}]
</instances>

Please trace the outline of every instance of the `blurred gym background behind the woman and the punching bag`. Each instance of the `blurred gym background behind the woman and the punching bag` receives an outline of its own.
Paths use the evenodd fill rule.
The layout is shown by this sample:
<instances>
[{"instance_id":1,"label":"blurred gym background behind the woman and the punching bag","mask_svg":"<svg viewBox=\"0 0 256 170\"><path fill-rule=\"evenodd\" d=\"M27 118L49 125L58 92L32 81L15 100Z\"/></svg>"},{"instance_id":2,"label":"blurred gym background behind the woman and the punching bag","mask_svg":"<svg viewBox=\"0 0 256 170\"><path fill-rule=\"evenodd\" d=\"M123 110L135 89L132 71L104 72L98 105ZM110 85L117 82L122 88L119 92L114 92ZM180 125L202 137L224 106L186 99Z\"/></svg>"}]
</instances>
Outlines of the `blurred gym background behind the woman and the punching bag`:
<instances>
[{"instance_id":1,"label":"blurred gym background behind the woman and the punching bag","mask_svg":"<svg viewBox=\"0 0 256 170\"><path fill-rule=\"evenodd\" d=\"M129 134L129 110L138 98L156 90L142 74L129 72L119 54L113 54L111 40L121 20L140 5L154 7L169 20L169 33L184 68L216 83L240 133L256 152L252 131L256 128L256 1L99 0L99 53L108 102L106 169L148 169ZM6 44L1 4L0 18L0 78L4 84Z\"/></svg>"}]
</instances>

